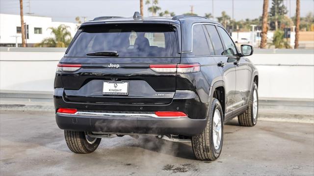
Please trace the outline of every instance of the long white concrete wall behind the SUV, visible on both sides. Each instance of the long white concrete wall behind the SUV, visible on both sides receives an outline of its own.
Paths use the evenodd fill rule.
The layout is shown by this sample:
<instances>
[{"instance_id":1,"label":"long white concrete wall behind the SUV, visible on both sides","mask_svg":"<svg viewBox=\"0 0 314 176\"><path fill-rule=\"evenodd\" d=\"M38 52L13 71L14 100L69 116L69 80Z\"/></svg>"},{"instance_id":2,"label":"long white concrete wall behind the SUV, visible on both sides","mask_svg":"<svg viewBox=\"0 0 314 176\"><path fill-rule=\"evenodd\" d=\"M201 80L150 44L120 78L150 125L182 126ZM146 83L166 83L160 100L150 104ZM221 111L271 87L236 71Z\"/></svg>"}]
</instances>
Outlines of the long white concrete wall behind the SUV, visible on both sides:
<instances>
[{"instance_id":1,"label":"long white concrete wall behind the SUV, visible on both sides","mask_svg":"<svg viewBox=\"0 0 314 176\"><path fill-rule=\"evenodd\" d=\"M53 91L58 60L66 49L0 48L0 90ZM255 50L259 96L314 99L314 50Z\"/></svg>"}]
</instances>

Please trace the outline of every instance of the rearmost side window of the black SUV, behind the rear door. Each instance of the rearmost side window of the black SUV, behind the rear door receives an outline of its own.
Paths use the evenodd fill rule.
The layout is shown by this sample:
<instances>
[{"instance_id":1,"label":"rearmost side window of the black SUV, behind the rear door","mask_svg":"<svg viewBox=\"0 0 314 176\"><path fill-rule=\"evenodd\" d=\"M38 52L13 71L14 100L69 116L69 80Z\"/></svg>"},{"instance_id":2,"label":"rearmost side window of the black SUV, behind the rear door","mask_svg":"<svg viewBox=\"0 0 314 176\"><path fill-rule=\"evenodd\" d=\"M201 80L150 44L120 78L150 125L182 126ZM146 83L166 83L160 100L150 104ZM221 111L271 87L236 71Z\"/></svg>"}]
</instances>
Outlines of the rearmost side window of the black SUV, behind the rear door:
<instances>
[{"instance_id":1,"label":"rearmost side window of the black SUV, behind the rear door","mask_svg":"<svg viewBox=\"0 0 314 176\"><path fill-rule=\"evenodd\" d=\"M202 25L193 26L192 50L194 55L209 55L209 48Z\"/></svg>"}]
</instances>

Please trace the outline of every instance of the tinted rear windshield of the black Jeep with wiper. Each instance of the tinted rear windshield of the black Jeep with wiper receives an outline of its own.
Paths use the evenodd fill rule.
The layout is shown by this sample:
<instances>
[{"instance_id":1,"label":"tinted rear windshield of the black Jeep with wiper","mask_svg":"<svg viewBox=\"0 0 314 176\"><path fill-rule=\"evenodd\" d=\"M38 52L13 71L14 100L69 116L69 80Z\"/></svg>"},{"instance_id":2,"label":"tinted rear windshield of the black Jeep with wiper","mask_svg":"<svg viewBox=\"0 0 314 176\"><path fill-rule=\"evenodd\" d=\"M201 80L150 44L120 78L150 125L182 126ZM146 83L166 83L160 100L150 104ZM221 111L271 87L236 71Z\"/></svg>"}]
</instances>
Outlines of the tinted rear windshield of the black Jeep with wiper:
<instances>
[{"instance_id":1,"label":"tinted rear windshield of the black Jeep with wiper","mask_svg":"<svg viewBox=\"0 0 314 176\"><path fill-rule=\"evenodd\" d=\"M91 25L83 28L66 56L117 51L117 57L177 57L178 49L178 33L172 25Z\"/></svg>"}]
</instances>

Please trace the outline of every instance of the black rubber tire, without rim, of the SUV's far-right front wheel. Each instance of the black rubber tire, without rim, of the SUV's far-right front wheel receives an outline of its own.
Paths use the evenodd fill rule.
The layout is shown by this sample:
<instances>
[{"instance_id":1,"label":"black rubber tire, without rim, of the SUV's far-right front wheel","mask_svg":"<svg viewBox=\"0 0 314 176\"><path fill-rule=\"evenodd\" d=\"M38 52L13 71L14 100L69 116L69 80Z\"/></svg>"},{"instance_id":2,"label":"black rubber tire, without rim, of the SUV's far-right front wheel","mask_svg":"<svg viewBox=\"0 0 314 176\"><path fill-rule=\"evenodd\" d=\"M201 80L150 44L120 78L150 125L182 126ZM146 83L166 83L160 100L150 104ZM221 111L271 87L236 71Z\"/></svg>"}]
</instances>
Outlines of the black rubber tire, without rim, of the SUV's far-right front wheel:
<instances>
[{"instance_id":1,"label":"black rubber tire, without rim, of the SUV's far-right front wheel","mask_svg":"<svg viewBox=\"0 0 314 176\"><path fill-rule=\"evenodd\" d=\"M254 90L256 91L257 94L257 103L259 102L259 94L258 94L258 89L257 89L257 85L254 82L253 85L253 89L251 91L251 95L249 98L249 102L248 102L248 107L245 110L245 112L243 112L242 114L237 116L238 122L240 126L255 126L257 124L257 120L258 120L258 116L259 116L259 108L257 108L257 115L256 118L254 118L254 114L253 114L253 93ZM258 104L257 104L257 107Z\"/></svg>"}]
</instances>

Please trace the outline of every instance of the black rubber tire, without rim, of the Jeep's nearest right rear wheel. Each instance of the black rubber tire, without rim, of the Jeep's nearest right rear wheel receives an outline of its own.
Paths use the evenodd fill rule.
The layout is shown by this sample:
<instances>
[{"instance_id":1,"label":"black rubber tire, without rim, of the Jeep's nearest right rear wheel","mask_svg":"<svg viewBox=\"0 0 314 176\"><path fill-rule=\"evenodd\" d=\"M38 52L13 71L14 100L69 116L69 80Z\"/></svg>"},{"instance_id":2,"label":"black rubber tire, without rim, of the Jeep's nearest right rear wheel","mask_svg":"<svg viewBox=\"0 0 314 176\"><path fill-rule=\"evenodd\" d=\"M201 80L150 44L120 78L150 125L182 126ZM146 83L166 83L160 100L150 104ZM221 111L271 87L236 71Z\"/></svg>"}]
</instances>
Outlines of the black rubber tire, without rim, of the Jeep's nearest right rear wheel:
<instances>
[{"instance_id":1,"label":"black rubber tire, without rim, of the Jeep's nearest right rear wheel","mask_svg":"<svg viewBox=\"0 0 314 176\"><path fill-rule=\"evenodd\" d=\"M221 142L218 149L215 149L214 147L212 130L213 116L216 109L219 110L221 118ZM193 153L198 160L213 161L219 157L223 143L223 122L223 113L220 102L217 99L213 98L211 102L211 107L209 109L209 118L206 128L204 129L202 134L192 137Z\"/></svg>"}]
</instances>

